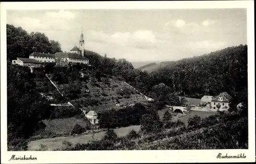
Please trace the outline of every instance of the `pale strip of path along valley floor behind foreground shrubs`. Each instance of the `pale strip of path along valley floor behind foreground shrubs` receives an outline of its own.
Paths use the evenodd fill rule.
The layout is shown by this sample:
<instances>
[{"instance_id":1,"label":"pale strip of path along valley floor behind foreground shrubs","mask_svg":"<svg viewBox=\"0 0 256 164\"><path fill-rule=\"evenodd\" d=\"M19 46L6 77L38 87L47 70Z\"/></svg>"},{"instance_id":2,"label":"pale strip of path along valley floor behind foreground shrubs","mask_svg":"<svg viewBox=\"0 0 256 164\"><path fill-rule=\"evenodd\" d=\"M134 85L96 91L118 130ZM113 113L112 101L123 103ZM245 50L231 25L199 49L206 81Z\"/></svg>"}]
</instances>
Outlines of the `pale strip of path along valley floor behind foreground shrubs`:
<instances>
[{"instance_id":1,"label":"pale strip of path along valley floor behind foreground shrubs","mask_svg":"<svg viewBox=\"0 0 256 164\"><path fill-rule=\"evenodd\" d=\"M129 131L132 129L138 131L140 129L140 125L122 127L122 128L115 129L115 131L119 136L124 136L127 133L129 133ZM104 134L105 132L95 133L94 139L99 140L104 136ZM56 138L41 139L41 140L29 142L28 151L36 151L40 149L40 144L47 146L48 150L54 150L54 149L60 148L62 146L63 141L68 141L68 142L71 142L72 144L77 144L77 143L84 144L84 143L88 143L91 140L92 140L92 134L86 134L86 135L80 135L80 136L59 136Z\"/></svg>"}]
</instances>

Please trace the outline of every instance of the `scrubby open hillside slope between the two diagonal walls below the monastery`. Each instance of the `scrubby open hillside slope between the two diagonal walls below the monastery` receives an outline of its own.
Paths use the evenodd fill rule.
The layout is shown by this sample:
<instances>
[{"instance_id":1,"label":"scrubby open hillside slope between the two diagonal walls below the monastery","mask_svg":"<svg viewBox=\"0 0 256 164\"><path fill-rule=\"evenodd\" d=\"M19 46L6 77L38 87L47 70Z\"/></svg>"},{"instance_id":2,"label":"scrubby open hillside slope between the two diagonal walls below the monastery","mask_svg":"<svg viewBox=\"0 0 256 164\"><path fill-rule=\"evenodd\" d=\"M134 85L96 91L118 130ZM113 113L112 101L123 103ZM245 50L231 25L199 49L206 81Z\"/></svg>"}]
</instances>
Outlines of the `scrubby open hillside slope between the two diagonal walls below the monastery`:
<instances>
[{"instance_id":1,"label":"scrubby open hillside slope between the two diagonal walls below the monastery","mask_svg":"<svg viewBox=\"0 0 256 164\"><path fill-rule=\"evenodd\" d=\"M109 108L125 107L136 102L147 100L134 88L124 81L109 77L102 77L101 81L89 80L75 81L74 85L80 86L81 94L71 103L83 110L101 111ZM69 84L58 85L60 91L68 92ZM124 91L127 90L127 91Z\"/></svg>"}]
</instances>

